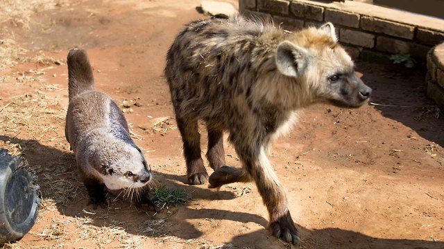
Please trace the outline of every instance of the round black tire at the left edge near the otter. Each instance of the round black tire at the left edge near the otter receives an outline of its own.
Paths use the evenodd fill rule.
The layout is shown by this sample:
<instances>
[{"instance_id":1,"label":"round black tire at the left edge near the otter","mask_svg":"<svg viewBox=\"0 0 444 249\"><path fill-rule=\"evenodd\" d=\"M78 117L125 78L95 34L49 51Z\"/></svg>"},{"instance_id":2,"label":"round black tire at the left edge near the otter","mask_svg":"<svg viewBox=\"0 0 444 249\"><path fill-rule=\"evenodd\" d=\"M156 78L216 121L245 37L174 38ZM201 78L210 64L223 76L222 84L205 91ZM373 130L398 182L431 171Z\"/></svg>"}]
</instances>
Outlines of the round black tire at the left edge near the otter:
<instances>
[{"instance_id":1,"label":"round black tire at the left edge near the otter","mask_svg":"<svg viewBox=\"0 0 444 249\"><path fill-rule=\"evenodd\" d=\"M24 158L0 149L0 244L22 238L37 219L40 187L26 166Z\"/></svg>"}]
</instances>

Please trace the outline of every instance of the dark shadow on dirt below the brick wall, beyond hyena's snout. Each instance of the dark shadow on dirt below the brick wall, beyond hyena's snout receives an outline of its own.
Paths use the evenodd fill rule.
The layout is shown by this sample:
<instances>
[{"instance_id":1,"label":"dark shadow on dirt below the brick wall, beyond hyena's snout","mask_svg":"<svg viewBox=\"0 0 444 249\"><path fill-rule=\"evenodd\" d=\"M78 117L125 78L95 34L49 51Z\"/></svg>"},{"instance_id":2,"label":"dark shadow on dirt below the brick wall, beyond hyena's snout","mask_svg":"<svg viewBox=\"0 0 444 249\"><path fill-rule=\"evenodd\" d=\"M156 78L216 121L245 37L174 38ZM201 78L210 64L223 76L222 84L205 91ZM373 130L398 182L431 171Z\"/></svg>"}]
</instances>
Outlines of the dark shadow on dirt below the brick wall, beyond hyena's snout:
<instances>
[{"instance_id":1,"label":"dark shadow on dirt below the brick wall, beyond hyena's snout","mask_svg":"<svg viewBox=\"0 0 444 249\"><path fill-rule=\"evenodd\" d=\"M388 64L381 66L358 62L362 80L373 89L370 102L386 117L401 122L422 138L444 147L443 110L427 97L424 68L405 68ZM437 118L438 116L438 118Z\"/></svg>"}]
</instances>

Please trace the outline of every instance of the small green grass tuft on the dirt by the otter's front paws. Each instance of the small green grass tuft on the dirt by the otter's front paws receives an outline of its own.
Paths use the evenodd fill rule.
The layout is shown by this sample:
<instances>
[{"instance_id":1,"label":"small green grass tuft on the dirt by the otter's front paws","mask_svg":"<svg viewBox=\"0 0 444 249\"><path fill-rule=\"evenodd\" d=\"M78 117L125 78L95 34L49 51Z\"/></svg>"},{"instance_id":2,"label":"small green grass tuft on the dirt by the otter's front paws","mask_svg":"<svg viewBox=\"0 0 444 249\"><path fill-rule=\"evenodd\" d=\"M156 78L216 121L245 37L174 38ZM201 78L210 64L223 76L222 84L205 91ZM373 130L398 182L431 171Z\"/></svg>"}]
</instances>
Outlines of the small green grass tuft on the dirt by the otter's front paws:
<instances>
[{"instance_id":1,"label":"small green grass tuft on the dirt by the otter's front paws","mask_svg":"<svg viewBox=\"0 0 444 249\"><path fill-rule=\"evenodd\" d=\"M169 189L162 185L153 190L153 201L160 209L168 208L171 205L177 206L186 203L191 196L181 189Z\"/></svg>"}]
</instances>

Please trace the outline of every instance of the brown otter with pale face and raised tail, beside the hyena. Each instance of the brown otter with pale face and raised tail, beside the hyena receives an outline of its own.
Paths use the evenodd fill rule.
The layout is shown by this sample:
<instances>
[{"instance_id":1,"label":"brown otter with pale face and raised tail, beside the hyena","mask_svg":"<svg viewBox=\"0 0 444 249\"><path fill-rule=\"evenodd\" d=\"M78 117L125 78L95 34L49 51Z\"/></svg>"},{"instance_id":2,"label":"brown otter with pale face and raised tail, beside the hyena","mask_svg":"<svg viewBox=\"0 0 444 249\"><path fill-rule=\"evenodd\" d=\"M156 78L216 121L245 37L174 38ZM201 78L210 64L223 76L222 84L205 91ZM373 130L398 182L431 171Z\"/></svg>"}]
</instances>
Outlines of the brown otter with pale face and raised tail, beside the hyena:
<instances>
[{"instance_id":1,"label":"brown otter with pale face and raised tail, beside the hyena","mask_svg":"<svg viewBox=\"0 0 444 249\"><path fill-rule=\"evenodd\" d=\"M67 57L68 95L65 136L76 155L80 176L96 208L107 205L105 192L124 190L136 204L151 201L151 168L130 136L128 123L110 96L94 90L94 76L85 50Z\"/></svg>"}]
</instances>

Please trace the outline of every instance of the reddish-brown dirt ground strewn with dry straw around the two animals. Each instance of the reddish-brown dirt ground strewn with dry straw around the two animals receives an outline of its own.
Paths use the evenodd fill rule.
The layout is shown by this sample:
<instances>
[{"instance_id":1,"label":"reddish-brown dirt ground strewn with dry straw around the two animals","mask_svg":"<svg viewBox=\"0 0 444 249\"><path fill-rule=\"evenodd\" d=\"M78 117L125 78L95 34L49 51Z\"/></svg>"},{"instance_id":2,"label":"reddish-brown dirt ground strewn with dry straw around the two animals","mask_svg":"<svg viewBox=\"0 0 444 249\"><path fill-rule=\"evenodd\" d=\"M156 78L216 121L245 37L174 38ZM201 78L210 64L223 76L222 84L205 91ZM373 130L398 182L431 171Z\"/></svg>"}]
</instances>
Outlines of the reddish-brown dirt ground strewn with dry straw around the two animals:
<instances>
[{"instance_id":1,"label":"reddish-brown dirt ground strewn with dry straw around the two animals","mask_svg":"<svg viewBox=\"0 0 444 249\"><path fill-rule=\"evenodd\" d=\"M199 1L41 2L48 5L34 5L29 19L0 27L10 35L0 37L0 53L10 57L0 65L0 147L28 160L43 196L33 229L4 248L290 247L265 229L268 214L253 183L219 192L185 184L163 68L182 25L205 18ZM160 213L113 197L108 210L87 205L64 134L65 60L76 46L89 53L97 89L118 104L138 103L125 114L135 142L157 183L191 196L185 205ZM444 118L425 95L425 73L364 62L357 71L374 104L310 107L270 155L300 247L444 248ZM239 166L225 147L227 163Z\"/></svg>"}]
</instances>

